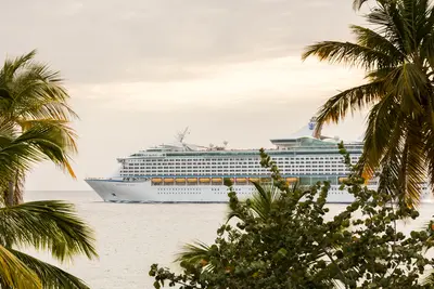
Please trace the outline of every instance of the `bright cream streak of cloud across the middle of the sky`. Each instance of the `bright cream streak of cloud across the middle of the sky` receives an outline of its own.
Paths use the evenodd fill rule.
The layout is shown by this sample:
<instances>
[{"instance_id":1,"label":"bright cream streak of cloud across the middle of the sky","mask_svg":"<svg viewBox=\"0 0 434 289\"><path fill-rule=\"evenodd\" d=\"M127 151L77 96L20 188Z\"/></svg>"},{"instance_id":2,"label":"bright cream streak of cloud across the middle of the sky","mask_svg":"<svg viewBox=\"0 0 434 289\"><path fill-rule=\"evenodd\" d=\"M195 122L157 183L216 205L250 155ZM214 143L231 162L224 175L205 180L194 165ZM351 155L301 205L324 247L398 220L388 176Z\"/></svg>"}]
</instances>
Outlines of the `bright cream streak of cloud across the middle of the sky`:
<instances>
[{"instance_id":1,"label":"bright cream streak of cloud across the middle of the sky","mask_svg":"<svg viewBox=\"0 0 434 289\"><path fill-rule=\"evenodd\" d=\"M360 70L282 57L221 66L213 76L201 79L81 84L74 87L72 94L75 98L99 100L117 111L170 111L329 97L361 79Z\"/></svg>"}]
</instances>

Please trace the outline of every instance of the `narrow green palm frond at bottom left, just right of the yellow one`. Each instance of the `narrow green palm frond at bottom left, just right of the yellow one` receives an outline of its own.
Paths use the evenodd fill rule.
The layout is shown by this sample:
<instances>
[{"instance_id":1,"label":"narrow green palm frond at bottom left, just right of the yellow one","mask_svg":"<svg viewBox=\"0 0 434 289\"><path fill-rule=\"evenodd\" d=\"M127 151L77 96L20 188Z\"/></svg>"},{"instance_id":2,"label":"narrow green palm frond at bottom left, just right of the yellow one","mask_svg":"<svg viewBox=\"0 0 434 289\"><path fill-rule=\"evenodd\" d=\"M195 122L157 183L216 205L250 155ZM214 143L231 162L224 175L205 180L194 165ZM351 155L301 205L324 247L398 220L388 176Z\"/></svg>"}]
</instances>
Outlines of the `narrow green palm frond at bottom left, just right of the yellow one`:
<instances>
[{"instance_id":1,"label":"narrow green palm frond at bottom left, just right of the yellow one","mask_svg":"<svg viewBox=\"0 0 434 289\"><path fill-rule=\"evenodd\" d=\"M89 289L85 281L69 273L23 252L9 249L18 260L39 276L46 289Z\"/></svg>"}]
</instances>

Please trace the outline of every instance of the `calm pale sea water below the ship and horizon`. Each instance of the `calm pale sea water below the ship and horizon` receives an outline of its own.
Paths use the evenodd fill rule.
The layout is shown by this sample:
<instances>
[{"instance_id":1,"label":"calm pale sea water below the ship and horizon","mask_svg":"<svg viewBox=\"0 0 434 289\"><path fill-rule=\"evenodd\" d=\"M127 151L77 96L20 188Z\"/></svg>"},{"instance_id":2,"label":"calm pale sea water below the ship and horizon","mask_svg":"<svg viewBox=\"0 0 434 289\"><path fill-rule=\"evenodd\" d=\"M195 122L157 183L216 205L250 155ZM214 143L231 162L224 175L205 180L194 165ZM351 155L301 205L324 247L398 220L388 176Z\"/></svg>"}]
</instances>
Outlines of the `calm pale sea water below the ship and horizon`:
<instances>
[{"instance_id":1,"label":"calm pale sea water below the ship and horizon","mask_svg":"<svg viewBox=\"0 0 434 289\"><path fill-rule=\"evenodd\" d=\"M76 205L78 214L95 232L98 260L77 258L61 264L94 289L153 288L151 264L176 270L173 263L182 245L195 239L213 242L227 212L225 203L107 203L93 192L27 192L25 200L62 199ZM344 206L331 205L331 212ZM434 214L434 205L422 205L421 216L400 226L420 228ZM27 252L59 265L48 253Z\"/></svg>"}]
</instances>

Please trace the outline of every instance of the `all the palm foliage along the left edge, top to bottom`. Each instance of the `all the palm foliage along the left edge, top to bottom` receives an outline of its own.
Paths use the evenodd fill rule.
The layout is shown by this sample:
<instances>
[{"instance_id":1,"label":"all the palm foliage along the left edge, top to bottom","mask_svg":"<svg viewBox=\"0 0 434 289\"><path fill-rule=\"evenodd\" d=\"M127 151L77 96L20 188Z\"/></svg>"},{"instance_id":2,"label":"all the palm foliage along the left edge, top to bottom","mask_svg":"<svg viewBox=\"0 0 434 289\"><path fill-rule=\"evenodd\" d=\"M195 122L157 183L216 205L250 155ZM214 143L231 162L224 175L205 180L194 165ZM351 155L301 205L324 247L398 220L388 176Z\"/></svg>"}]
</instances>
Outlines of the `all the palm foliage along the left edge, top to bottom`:
<instances>
[{"instance_id":1,"label":"all the palm foliage along the left edge, top to bottom","mask_svg":"<svg viewBox=\"0 0 434 289\"><path fill-rule=\"evenodd\" d=\"M54 98L54 94L55 97L62 94L58 91L59 87L51 87L48 81L55 75L50 73L43 78L43 74L49 71L27 63L30 56L24 60L7 61L0 70L2 191L12 185L16 192L25 172L35 162L51 159L60 166L68 167L66 152L74 147L73 140L69 140L74 133L67 127L66 117L61 119L62 104L55 110L56 105L39 102L44 97L49 102L50 97ZM25 70L17 74L17 69ZM54 100L52 103L55 103ZM35 107L31 108L30 104ZM26 114L31 117L24 118ZM50 114L58 114L59 119L42 119ZM18 250L23 247L47 250L60 262L72 261L78 254L88 259L97 258L93 232L76 214L74 206L55 200L7 205L0 208L0 288L89 288L81 279Z\"/></svg>"}]
</instances>

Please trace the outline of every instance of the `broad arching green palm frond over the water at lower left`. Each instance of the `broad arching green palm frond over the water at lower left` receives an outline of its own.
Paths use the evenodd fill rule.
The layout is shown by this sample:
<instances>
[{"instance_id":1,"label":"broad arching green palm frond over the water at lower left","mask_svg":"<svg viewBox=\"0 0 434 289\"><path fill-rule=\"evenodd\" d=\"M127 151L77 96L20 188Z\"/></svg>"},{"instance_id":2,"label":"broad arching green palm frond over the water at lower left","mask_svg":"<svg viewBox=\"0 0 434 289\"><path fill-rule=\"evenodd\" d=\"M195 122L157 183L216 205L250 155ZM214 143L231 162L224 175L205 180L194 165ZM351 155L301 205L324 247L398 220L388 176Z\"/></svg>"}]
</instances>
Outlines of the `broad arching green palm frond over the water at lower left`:
<instances>
[{"instance_id":1,"label":"broad arching green palm frond over the water at lower left","mask_svg":"<svg viewBox=\"0 0 434 289\"><path fill-rule=\"evenodd\" d=\"M74 205L33 201L0 209L2 244L33 246L50 250L60 261L76 254L98 257L92 229L75 213Z\"/></svg>"}]
</instances>

